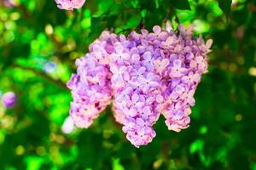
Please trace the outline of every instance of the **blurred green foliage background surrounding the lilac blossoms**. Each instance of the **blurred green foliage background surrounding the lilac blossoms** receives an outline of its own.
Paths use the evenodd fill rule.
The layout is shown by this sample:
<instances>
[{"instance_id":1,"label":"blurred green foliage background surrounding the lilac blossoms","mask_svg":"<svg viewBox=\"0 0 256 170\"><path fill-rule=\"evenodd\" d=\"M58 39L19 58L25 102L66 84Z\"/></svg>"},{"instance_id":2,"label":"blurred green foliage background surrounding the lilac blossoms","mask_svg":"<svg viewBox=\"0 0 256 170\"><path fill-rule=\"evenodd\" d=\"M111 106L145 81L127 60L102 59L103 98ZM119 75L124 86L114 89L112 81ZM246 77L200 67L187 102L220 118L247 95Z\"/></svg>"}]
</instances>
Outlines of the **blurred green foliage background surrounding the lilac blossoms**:
<instances>
[{"instance_id":1,"label":"blurred green foliage background surrounding the lilac blossoms","mask_svg":"<svg viewBox=\"0 0 256 170\"><path fill-rule=\"evenodd\" d=\"M256 169L256 2L87 0L65 11L54 0L0 0L0 169ZM212 38L209 72L191 124L139 149L108 108L89 129L73 127L65 83L74 60L104 29L127 34L171 20Z\"/></svg>"}]
</instances>

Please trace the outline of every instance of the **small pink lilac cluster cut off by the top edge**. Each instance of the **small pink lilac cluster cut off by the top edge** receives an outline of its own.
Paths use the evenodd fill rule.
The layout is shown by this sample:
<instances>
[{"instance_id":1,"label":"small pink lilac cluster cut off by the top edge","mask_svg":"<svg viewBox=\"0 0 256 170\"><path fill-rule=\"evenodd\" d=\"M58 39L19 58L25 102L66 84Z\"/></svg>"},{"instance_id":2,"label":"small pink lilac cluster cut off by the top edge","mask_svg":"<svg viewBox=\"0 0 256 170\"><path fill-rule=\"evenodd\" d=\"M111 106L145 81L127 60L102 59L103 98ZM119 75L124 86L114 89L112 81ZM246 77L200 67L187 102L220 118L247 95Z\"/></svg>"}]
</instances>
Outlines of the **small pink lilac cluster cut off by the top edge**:
<instances>
[{"instance_id":1,"label":"small pink lilac cluster cut off by the top edge","mask_svg":"<svg viewBox=\"0 0 256 170\"><path fill-rule=\"evenodd\" d=\"M74 8L82 8L85 0L55 0L58 8L73 10Z\"/></svg>"}]
</instances>

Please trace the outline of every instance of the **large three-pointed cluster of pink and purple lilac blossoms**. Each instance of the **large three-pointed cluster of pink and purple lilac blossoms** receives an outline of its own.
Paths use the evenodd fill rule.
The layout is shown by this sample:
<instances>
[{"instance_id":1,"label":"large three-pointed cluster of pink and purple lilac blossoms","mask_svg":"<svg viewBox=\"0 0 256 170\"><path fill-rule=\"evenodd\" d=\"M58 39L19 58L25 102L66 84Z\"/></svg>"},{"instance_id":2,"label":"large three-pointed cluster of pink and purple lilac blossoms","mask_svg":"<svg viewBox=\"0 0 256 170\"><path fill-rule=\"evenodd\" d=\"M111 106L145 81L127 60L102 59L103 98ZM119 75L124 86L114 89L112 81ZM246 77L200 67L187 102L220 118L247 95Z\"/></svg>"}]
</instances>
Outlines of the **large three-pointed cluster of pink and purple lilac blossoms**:
<instances>
[{"instance_id":1,"label":"large three-pointed cluster of pink and purple lilac blossoms","mask_svg":"<svg viewBox=\"0 0 256 170\"><path fill-rule=\"evenodd\" d=\"M72 90L71 116L89 127L113 99L117 122L131 144L148 144L160 114L169 130L189 127L195 88L207 72L212 40L192 37L192 28L175 31L132 31L128 37L103 31L90 52L77 59L78 73L67 83Z\"/></svg>"}]
</instances>

